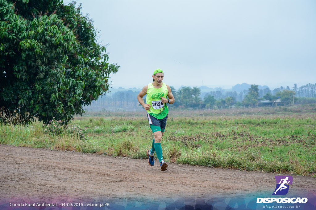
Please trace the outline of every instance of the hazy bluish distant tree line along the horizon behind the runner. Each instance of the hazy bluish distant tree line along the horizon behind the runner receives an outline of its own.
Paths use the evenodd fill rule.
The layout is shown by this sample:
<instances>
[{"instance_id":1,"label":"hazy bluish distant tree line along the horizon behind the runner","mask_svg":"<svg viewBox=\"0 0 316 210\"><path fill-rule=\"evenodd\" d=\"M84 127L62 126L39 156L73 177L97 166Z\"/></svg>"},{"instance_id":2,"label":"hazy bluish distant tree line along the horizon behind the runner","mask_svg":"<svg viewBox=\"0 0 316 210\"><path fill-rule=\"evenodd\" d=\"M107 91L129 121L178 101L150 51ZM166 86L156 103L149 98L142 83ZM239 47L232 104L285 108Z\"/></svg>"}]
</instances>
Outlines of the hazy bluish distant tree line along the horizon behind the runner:
<instances>
[{"instance_id":1,"label":"hazy bluish distant tree line along the horizon behind the runner","mask_svg":"<svg viewBox=\"0 0 316 210\"><path fill-rule=\"evenodd\" d=\"M170 87L174 95L175 102L171 107L177 108L224 108L224 107L240 107L240 106L252 106L256 107L258 101L267 99L275 101L281 99L284 105L293 104L293 94L295 104L304 103L316 103L316 83L307 84L301 87L294 87L291 89L289 86L286 88L280 87L275 88L272 91L270 88L259 89L258 85L252 84L248 90L240 91L238 94L236 91L224 91L222 88L216 88L215 91L210 91L201 97L201 89L198 87L182 87L177 91L172 86ZM138 92L118 91L113 94L107 94L92 103L97 106L108 106L108 107L139 107L137 101ZM144 97L146 101L146 96Z\"/></svg>"}]
</instances>

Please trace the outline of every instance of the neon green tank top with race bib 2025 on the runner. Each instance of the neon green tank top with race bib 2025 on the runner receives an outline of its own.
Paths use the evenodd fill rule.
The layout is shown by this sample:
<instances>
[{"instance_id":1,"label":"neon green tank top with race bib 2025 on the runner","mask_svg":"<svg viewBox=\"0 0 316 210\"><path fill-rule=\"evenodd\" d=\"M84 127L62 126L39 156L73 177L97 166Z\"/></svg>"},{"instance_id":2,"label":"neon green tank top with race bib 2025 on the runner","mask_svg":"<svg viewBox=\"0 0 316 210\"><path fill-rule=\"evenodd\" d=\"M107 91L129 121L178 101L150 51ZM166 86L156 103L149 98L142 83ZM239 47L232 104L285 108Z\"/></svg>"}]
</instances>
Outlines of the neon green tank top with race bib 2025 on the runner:
<instances>
[{"instance_id":1,"label":"neon green tank top with race bib 2025 on the runner","mask_svg":"<svg viewBox=\"0 0 316 210\"><path fill-rule=\"evenodd\" d=\"M166 83L161 88L155 88L152 83L148 84L146 104L151 105L147 112L157 119L162 119L168 114L167 103L163 104L160 97L167 98L168 89Z\"/></svg>"}]
</instances>

